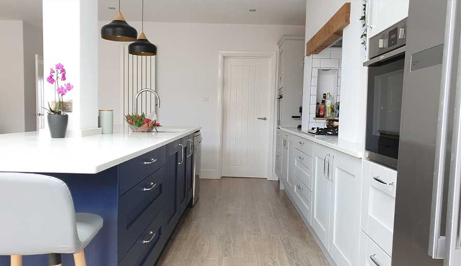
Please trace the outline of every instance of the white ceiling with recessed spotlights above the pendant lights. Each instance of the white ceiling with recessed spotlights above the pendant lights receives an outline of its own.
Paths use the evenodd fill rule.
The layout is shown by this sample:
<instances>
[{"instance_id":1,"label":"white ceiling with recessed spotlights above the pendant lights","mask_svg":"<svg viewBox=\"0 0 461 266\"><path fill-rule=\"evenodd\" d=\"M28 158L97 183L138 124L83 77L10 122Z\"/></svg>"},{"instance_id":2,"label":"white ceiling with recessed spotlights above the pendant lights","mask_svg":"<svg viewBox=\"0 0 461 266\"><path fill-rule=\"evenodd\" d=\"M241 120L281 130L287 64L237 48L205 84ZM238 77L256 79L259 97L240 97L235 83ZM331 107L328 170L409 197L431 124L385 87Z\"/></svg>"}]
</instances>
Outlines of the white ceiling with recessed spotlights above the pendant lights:
<instances>
[{"instance_id":1,"label":"white ceiling with recessed spotlights above the pendant lights","mask_svg":"<svg viewBox=\"0 0 461 266\"><path fill-rule=\"evenodd\" d=\"M111 21L117 0L98 0L99 20ZM219 24L304 25L305 0L146 0L144 21ZM116 7L110 10L108 7ZM256 12L249 12L256 9ZM1 0L0 19L42 24L42 0ZM141 21L141 0L122 1L129 21Z\"/></svg>"}]
</instances>

